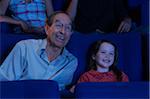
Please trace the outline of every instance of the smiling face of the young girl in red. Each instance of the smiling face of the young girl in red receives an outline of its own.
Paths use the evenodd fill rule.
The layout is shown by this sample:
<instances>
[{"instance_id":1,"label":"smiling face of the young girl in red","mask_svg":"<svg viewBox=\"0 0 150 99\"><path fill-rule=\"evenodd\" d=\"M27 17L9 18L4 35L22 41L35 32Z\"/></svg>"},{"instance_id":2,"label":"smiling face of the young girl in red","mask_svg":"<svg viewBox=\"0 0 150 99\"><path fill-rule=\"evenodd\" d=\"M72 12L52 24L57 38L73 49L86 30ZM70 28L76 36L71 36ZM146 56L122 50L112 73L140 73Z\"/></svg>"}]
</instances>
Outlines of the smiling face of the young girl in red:
<instances>
[{"instance_id":1,"label":"smiling face of the young girl in red","mask_svg":"<svg viewBox=\"0 0 150 99\"><path fill-rule=\"evenodd\" d=\"M114 63L115 47L107 42L100 45L98 52L93 59L96 61L97 67L109 68Z\"/></svg>"}]
</instances>

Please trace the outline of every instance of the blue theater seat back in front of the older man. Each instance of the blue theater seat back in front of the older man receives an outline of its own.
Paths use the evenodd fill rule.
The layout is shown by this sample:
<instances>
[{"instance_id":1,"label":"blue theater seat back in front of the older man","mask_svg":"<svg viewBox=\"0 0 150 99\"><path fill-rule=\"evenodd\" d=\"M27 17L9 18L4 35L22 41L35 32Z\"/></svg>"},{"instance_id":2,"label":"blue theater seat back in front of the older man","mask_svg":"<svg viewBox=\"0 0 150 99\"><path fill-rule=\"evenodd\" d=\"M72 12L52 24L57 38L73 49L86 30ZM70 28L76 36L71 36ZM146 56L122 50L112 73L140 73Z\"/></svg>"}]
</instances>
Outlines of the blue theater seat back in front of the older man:
<instances>
[{"instance_id":1,"label":"blue theater seat back in front of the older man","mask_svg":"<svg viewBox=\"0 0 150 99\"><path fill-rule=\"evenodd\" d=\"M58 84L51 80L1 81L0 98L59 99Z\"/></svg>"}]
</instances>

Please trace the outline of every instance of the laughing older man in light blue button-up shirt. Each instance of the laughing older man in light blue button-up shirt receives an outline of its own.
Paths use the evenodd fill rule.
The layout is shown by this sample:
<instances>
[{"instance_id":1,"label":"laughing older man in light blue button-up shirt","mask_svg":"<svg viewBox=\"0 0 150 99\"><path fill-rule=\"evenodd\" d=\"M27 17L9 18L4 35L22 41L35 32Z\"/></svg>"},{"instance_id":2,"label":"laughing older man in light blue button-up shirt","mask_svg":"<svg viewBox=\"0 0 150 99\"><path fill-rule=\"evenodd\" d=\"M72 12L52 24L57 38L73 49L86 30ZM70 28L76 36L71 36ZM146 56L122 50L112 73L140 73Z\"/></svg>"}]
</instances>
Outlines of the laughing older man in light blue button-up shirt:
<instances>
[{"instance_id":1,"label":"laughing older man in light blue button-up shirt","mask_svg":"<svg viewBox=\"0 0 150 99\"><path fill-rule=\"evenodd\" d=\"M22 40L0 66L0 80L43 79L58 82L65 89L72 81L77 58L66 48L73 30L67 13L55 12L48 17L45 39Z\"/></svg>"}]
</instances>

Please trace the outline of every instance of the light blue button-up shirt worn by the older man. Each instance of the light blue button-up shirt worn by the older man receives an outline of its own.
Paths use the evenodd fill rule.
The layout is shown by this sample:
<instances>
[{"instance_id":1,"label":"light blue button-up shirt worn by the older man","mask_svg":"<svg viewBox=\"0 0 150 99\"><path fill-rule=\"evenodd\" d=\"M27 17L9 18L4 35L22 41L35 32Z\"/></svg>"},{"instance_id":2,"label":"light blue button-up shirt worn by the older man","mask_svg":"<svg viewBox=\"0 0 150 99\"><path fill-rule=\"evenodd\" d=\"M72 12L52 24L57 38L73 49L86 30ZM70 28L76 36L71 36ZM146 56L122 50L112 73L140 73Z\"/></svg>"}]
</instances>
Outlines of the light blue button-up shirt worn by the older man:
<instances>
[{"instance_id":1,"label":"light blue button-up shirt worn by the older man","mask_svg":"<svg viewBox=\"0 0 150 99\"><path fill-rule=\"evenodd\" d=\"M77 58L65 48L49 61L45 48L47 40L23 40L16 44L0 66L0 80L45 79L58 82L60 90L71 83Z\"/></svg>"}]
</instances>

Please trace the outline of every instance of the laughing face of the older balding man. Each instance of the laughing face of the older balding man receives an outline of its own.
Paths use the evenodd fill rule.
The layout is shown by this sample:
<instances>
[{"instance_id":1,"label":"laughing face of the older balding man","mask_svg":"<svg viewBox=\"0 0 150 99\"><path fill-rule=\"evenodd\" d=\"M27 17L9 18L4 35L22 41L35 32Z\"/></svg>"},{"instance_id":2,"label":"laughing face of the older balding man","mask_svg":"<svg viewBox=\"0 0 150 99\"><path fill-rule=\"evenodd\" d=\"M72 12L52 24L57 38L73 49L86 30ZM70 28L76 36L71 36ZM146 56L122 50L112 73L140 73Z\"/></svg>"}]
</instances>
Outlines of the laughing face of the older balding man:
<instances>
[{"instance_id":1,"label":"laughing face of the older balding man","mask_svg":"<svg viewBox=\"0 0 150 99\"><path fill-rule=\"evenodd\" d=\"M54 17L51 26L46 26L47 39L50 45L63 48L69 41L72 34L72 22L70 18L63 13Z\"/></svg>"}]
</instances>

